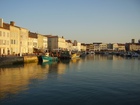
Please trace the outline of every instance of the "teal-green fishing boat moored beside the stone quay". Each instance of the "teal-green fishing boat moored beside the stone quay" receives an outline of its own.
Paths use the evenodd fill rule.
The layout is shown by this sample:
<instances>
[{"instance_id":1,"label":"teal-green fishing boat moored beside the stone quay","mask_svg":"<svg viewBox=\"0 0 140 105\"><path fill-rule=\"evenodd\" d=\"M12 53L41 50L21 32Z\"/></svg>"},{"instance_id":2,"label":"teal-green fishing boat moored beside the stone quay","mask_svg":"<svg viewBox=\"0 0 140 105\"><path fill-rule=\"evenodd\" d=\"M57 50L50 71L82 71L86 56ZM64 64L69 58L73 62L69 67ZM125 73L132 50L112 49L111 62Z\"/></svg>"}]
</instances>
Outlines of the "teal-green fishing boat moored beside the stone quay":
<instances>
[{"instance_id":1,"label":"teal-green fishing boat moored beside the stone quay","mask_svg":"<svg viewBox=\"0 0 140 105\"><path fill-rule=\"evenodd\" d=\"M46 53L46 55L41 55L39 57L39 61L41 62L58 61L58 58L49 56L49 53Z\"/></svg>"}]
</instances>

